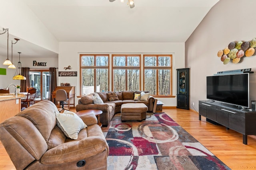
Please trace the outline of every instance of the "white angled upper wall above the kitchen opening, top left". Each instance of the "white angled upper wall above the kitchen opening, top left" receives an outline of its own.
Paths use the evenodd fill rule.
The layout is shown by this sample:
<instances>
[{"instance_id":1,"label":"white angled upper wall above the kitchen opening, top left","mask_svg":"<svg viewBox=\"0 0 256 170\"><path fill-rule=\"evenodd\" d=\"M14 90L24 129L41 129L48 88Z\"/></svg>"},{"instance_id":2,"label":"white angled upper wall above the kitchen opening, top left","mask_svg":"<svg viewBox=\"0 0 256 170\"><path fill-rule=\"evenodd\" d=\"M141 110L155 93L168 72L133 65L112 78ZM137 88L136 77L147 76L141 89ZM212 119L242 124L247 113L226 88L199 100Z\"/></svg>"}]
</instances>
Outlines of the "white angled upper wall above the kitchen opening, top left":
<instances>
[{"instance_id":1,"label":"white angled upper wall above the kitchen opening, top left","mask_svg":"<svg viewBox=\"0 0 256 170\"><path fill-rule=\"evenodd\" d=\"M2 0L0 16L0 27L10 34L58 53L58 41L23 0Z\"/></svg>"}]
</instances>

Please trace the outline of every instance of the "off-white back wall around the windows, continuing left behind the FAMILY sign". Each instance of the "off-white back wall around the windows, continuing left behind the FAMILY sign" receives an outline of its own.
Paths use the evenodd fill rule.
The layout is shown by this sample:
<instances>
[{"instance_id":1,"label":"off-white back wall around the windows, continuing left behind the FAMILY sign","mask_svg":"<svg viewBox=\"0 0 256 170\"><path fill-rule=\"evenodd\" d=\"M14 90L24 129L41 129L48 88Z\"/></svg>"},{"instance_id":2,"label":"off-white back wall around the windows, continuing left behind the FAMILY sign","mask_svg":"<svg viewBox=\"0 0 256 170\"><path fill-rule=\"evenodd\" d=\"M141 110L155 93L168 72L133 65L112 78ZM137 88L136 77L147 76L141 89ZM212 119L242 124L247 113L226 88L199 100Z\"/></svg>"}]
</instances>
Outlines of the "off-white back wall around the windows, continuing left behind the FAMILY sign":
<instances>
[{"instance_id":1,"label":"off-white back wall around the windows, continuing left behind the FAMILY sign","mask_svg":"<svg viewBox=\"0 0 256 170\"><path fill-rule=\"evenodd\" d=\"M77 77L58 77L58 85L60 83L70 83L71 86L76 86L76 96L80 95L79 86L79 71L80 62L79 54L122 54L122 53L136 53L136 54L172 54L173 55L173 95L176 96L176 68L184 68L184 43L83 43L83 42L61 42L59 58L30 58L23 57L21 54L22 67L29 67L31 69L58 67L58 71L64 70L68 65L72 66L72 71L78 71ZM5 58L5 57L3 57ZM47 62L47 66L33 66L33 61ZM18 58L13 59L13 63L17 65ZM1 68L8 66L2 65ZM20 84L19 80L12 80L16 69L6 69L7 75L0 75L0 88L6 88L8 84ZM143 84L143 82L142 82ZM111 88L111 87L110 87ZM176 106L175 98L158 98L164 103L164 106ZM78 99L76 98L76 104Z\"/></svg>"}]
</instances>

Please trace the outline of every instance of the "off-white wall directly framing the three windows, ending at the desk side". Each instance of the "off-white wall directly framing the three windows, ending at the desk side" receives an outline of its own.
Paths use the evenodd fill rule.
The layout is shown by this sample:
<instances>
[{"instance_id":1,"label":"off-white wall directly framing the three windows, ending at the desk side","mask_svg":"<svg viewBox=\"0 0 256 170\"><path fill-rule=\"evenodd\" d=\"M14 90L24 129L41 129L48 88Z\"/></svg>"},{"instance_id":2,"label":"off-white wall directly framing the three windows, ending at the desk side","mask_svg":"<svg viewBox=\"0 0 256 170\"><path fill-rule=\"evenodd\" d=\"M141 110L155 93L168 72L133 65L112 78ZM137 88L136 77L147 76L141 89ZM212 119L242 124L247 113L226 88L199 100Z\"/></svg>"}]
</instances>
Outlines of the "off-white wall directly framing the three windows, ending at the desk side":
<instances>
[{"instance_id":1,"label":"off-white wall directly framing the three windows, ending at the desk side","mask_svg":"<svg viewBox=\"0 0 256 170\"><path fill-rule=\"evenodd\" d=\"M60 42L59 71L65 71L64 67L70 65L72 71L78 72L78 77L59 77L58 82L59 85L68 82L71 86L76 86L76 96L80 95L80 54L172 54L174 66L172 85L173 95L176 96L176 68L185 66L184 48L184 43ZM164 103L164 106L176 106L176 98L158 99ZM77 98L76 104L78 104Z\"/></svg>"}]
</instances>

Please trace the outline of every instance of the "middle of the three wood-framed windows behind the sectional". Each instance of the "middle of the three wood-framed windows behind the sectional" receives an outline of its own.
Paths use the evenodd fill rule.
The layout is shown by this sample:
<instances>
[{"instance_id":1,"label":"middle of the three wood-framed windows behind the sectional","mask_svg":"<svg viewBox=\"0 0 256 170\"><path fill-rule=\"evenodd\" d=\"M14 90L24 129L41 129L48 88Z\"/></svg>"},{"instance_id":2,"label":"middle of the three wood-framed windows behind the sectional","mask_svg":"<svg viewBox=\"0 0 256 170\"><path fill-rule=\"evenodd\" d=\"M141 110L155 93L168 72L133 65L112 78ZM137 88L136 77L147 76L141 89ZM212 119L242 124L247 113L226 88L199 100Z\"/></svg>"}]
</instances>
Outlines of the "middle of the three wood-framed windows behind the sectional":
<instances>
[{"instance_id":1,"label":"middle of the three wood-framed windows behind the sectional","mask_svg":"<svg viewBox=\"0 0 256 170\"><path fill-rule=\"evenodd\" d=\"M140 90L141 55L112 55L112 91Z\"/></svg>"}]
</instances>

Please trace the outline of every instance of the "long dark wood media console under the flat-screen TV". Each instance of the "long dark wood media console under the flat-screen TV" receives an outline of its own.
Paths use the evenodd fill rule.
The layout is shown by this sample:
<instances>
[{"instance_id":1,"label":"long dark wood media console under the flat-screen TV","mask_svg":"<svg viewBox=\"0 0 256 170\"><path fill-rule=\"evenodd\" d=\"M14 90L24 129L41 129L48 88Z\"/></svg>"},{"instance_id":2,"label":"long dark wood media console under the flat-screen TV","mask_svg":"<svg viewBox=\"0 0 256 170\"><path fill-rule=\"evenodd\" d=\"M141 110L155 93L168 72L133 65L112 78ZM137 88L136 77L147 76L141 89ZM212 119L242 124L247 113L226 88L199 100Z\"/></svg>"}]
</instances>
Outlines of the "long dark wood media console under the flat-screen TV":
<instances>
[{"instance_id":1,"label":"long dark wood media console under the flat-screen TV","mask_svg":"<svg viewBox=\"0 0 256 170\"><path fill-rule=\"evenodd\" d=\"M200 100L199 120L201 116L242 133L244 145L247 145L247 135L256 135L256 111L241 110L239 107L212 100Z\"/></svg>"}]
</instances>

